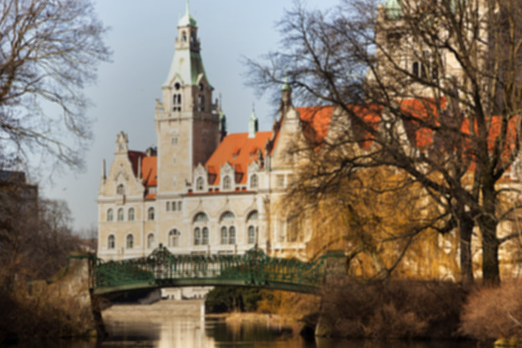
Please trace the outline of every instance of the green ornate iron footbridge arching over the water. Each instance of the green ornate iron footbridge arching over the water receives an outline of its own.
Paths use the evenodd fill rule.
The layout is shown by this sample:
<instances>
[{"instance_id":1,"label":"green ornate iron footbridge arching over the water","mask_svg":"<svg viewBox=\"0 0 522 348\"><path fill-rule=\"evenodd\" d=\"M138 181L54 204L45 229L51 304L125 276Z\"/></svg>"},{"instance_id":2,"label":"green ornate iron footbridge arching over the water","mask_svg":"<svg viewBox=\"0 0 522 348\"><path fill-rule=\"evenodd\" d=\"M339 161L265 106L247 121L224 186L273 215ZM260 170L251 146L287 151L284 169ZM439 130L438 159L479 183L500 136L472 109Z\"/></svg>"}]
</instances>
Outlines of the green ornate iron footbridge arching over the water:
<instances>
[{"instance_id":1,"label":"green ornate iron footbridge arching over the water","mask_svg":"<svg viewBox=\"0 0 522 348\"><path fill-rule=\"evenodd\" d=\"M93 269L94 294L157 287L235 285L317 293L327 261L344 258L327 253L315 262L270 258L260 248L244 255L174 255L159 246L144 258L102 262Z\"/></svg>"}]
</instances>

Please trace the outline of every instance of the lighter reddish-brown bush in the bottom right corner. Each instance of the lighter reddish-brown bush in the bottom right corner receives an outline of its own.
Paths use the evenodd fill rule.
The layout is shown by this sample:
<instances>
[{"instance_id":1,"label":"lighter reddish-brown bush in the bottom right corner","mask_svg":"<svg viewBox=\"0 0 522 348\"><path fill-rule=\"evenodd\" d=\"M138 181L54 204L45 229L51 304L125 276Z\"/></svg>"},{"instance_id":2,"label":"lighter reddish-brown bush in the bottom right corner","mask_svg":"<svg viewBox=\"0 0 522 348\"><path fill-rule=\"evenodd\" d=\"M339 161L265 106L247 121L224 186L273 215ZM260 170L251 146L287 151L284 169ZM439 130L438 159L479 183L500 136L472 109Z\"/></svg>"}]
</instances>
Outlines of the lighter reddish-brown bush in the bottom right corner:
<instances>
[{"instance_id":1,"label":"lighter reddish-brown bush in the bottom right corner","mask_svg":"<svg viewBox=\"0 0 522 348\"><path fill-rule=\"evenodd\" d=\"M468 296L461 316L461 333L477 340L522 339L522 280L500 287L480 287Z\"/></svg>"}]
</instances>

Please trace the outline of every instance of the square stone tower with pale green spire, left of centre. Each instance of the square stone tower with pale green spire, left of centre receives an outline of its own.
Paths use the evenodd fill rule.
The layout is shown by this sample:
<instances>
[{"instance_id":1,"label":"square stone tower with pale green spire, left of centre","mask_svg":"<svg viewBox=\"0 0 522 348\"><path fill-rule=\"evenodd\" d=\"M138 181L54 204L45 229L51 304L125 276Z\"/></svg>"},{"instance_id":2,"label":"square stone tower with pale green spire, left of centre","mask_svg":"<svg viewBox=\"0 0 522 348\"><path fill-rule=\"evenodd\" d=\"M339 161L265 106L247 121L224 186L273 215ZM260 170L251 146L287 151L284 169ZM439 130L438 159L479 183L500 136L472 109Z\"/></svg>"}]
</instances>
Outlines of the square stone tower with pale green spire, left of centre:
<instances>
[{"instance_id":1,"label":"square stone tower with pale green spire, left of centre","mask_svg":"<svg viewBox=\"0 0 522 348\"><path fill-rule=\"evenodd\" d=\"M200 54L198 25L189 12L177 23L171 68L155 108L158 193L180 193L193 181L193 168L205 164L220 141L220 116L212 102ZM176 184L175 184L176 183Z\"/></svg>"}]
</instances>

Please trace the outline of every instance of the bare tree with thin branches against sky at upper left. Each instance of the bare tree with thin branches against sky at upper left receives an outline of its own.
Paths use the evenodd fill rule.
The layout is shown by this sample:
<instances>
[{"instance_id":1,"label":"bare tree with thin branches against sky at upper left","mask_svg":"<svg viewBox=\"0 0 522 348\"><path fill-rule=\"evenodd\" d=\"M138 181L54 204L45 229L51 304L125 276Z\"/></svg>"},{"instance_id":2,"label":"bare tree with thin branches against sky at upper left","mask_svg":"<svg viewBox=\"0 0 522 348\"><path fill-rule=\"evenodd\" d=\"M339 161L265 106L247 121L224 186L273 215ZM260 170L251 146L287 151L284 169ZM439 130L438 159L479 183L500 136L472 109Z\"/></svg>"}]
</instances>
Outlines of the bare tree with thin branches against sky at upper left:
<instances>
[{"instance_id":1,"label":"bare tree with thin branches against sky at upper left","mask_svg":"<svg viewBox=\"0 0 522 348\"><path fill-rule=\"evenodd\" d=\"M108 61L106 28L90 0L0 1L0 151L3 161L42 150L81 165L90 139L81 93Z\"/></svg>"}]
</instances>

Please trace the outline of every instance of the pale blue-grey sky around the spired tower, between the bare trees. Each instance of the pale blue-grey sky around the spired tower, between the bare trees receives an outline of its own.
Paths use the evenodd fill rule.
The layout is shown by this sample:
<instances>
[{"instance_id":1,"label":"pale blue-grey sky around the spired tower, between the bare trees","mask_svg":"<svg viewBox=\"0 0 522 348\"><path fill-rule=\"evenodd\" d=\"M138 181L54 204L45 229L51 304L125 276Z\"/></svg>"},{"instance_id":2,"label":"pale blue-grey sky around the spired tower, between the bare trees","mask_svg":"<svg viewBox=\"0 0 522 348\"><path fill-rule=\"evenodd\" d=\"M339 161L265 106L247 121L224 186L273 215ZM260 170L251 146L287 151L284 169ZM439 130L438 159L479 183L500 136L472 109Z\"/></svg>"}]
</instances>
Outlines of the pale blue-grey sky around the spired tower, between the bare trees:
<instances>
[{"instance_id":1,"label":"pale blue-grey sky around the spired tower, between the bare trees","mask_svg":"<svg viewBox=\"0 0 522 348\"><path fill-rule=\"evenodd\" d=\"M309 0L308 8L327 9L337 0ZM260 130L271 129L278 105L254 88L246 86L247 68L242 57L261 58L280 49L276 23L292 0L191 0L190 13L198 22L201 55L214 99L221 93L228 132L248 132L252 104ZM156 144L155 100L161 97L174 54L177 22L185 13L185 0L99 0L95 10L110 27L106 44L112 62L98 69L97 83L86 88L93 102L88 117L93 120L94 139L86 152L81 173L65 170L39 181L40 196L65 200L72 212L74 230L97 226L97 190L102 160L107 168L113 160L116 134L129 137L129 149L145 150Z\"/></svg>"}]
</instances>

